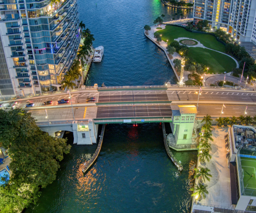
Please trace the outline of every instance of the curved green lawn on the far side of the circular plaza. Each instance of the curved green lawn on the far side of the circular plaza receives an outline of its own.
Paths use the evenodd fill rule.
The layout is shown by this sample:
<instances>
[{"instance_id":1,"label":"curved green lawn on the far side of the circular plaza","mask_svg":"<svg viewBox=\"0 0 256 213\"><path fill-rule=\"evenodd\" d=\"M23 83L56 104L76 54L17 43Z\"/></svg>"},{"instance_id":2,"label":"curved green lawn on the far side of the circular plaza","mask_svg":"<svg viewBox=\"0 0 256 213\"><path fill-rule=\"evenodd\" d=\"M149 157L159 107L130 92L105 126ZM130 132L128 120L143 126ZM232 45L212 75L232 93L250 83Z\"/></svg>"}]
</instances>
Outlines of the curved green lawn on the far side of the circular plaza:
<instances>
[{"instance_id":1,"label":"curved green lawn on the far side of the circular plaza","mask_svg":"<svg viewBox=\"0 0 256 213\"><path fill-rule=\"evenodd\" d=\"M187 37L200 41L204 46L215 49L220 52L225 51L224 44L218 42L213 35L209 34L201 34L201 33L193 33L186 31L181 27L166 25L165 29L157 31L159 34L162 34L162 40L166 42L168 40L168 44L174 41L174 39L179 37Z\"/></svg>"}]
</instances>

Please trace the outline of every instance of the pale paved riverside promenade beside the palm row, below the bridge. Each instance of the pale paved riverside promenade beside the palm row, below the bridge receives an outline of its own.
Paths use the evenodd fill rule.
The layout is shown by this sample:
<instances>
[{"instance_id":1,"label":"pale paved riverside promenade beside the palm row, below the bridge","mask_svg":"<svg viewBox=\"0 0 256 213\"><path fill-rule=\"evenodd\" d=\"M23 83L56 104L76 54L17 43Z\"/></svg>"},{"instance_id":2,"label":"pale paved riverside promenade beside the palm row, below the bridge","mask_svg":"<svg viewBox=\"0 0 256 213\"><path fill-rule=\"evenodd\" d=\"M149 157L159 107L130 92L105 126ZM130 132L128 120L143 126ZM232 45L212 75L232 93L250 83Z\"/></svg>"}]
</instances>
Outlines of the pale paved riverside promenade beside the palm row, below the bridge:
<instances>
[{"instance_id":1,"label":"pale paved riverside promenade beside the palm row, below the bridge","mask_svg":"<svg viewBox=\"0 0 256 213\"><path fill-rule=\"evenodd\" d=\"M203 165L198 162L198 166L207 167L209 174L212 175L210 181L206 180L208 185L207 190L209 194L206 199L199 201L199 204L212 205L219 207L231 207L231 189L230 189L230 170L227 167L226 148L224 135L227 134L228 129L218 129L213 126L212 131L212 150L210 155L212 159Z\"/></svg>"}]
</instances>

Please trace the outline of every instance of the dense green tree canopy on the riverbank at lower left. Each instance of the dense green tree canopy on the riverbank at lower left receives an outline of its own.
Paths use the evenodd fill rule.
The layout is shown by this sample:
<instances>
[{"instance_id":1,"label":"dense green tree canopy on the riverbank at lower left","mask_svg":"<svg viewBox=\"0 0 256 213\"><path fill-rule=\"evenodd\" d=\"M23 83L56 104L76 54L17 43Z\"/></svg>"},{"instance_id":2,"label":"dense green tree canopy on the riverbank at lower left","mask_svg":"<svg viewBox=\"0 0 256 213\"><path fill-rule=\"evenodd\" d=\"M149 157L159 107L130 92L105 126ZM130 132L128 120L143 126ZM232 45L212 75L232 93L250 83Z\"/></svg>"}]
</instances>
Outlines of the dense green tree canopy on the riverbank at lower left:
<instances>
[{"instance_id":1,"label":"dense green tree canopy on the riverbank at lower left","mask_svg":"<svg viewBox=\"0 0 256 213\"><path fill-rule=\"evenodd\" d=\"M0 117L0 141L12 158L12 176L0 186L0 209L17 213L37 201L40 187L55 180L59 161L71 146L66 139L42 132L30 112L0 109Z\"/></svg>"}]
</instances>

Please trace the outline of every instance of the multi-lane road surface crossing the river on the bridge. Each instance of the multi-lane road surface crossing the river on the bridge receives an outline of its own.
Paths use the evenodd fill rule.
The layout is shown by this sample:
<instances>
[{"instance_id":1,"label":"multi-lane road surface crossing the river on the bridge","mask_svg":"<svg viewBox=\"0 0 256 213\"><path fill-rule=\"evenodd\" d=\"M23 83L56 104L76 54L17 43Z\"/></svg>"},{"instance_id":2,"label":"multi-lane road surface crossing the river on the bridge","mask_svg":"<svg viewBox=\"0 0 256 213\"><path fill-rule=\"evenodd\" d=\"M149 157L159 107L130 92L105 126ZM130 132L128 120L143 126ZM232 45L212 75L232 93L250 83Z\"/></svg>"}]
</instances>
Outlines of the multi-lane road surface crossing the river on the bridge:
<instances>
[{"instance_id":1,"label":"multi-lane road surface crossing the river on the bridge","mask_svg":"<svg viewBox=\"0 0 256 213\"><path fill-rule=\"evenodd\" d=\"M198 106L198 116L221 114L222 103L226 108L223 116L244 115L246 106L247 115L256 115L256 93L233 90L204 89L201 92ZM86 99L95 97L96 101L87 103ZM58 104L58 100L68 99L68 93L46 95L17 100L16 107L24 108L28 103L34 107L27 108L38 121L67 121L73 119L71 103ZM72 93L72 104L75 119L88 118L154 118L171 117L170 104L186 104L193 101L196 105L198 89L173 89L173 90L124 90L124 91L79 91ZM45 101L52 101L51 105L43 105ZM202 102L204 101L204 102ZM212 101L215 103L213 104ZM3 103L3 107L11 101ZM157 103L158 102L158 103ZM238 103L240 102L240 103ZM255 105L253 105L255 104ZM48 118L46 118L46 110Z\"/></svg>"}]
</instances>

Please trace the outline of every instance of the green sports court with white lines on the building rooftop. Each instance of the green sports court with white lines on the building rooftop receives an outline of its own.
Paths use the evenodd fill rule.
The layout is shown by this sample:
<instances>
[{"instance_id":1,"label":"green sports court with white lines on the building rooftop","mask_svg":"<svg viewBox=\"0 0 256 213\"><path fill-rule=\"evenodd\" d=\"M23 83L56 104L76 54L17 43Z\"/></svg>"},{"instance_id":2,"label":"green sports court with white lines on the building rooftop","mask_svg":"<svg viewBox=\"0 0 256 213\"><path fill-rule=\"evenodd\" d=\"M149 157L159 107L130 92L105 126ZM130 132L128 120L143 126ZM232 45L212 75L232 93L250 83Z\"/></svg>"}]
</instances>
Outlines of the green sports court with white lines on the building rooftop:
<instances>
[{"instance_id":1,"label":"green sports court with white lines on the building rooftop","mask_svg":"<svg viewBox=\"0 0 256 213\"><path fill-rule=\"evenodd\" d=\"M256 159L241 157L244 174L244 193L256 196Z\"/></svg>"}]
</instances>

